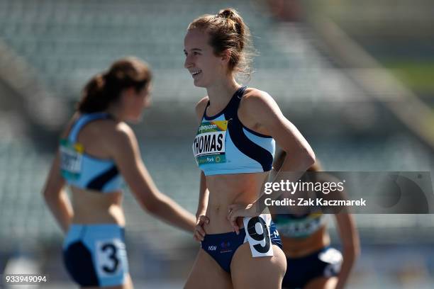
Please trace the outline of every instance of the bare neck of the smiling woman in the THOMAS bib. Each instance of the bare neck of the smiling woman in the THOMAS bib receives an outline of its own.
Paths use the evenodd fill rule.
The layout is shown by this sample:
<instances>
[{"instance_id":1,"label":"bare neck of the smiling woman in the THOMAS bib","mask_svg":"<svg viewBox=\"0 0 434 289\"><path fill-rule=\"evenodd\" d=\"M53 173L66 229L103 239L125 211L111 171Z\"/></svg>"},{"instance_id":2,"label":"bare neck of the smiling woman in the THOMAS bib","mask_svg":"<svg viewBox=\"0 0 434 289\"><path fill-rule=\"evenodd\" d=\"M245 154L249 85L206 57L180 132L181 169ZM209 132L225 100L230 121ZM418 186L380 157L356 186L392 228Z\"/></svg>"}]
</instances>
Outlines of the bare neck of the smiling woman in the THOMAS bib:
<instances>
[{"instance_id":1,"label":"bare neck of the smiling woman in the THOMAS bib","mask_svg":"<svg viewBox=\"0 0 434 289\"><path fill-rule=\"evenodd\" d=\"M240 84L233 77L216 81L212 86L206 88L210 103L215 108L223 108L228 104Z\"/></svg>"}]
</instances>

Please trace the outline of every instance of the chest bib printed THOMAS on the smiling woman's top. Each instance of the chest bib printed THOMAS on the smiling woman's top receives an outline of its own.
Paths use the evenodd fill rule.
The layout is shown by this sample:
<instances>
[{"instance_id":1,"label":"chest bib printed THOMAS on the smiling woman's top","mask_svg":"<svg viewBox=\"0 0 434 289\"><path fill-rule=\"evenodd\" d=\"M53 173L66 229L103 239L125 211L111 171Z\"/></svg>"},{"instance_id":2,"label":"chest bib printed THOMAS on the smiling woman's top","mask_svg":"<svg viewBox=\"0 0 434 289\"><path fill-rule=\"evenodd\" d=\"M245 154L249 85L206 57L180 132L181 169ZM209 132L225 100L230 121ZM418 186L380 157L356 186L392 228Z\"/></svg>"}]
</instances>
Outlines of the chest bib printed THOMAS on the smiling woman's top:
<instances>
[{"instance_id":1,"label":"chest bib printed THOMAS on the smiling woman's top","mask_svg":"<svg viewBox=\"0 0 434 289\"><path fill-rule=\"evenodd\" d=\"M193 153L198 165L226 162L226 131L228 120L201 123L193 142Z\"/></svg>"}]
</instances>

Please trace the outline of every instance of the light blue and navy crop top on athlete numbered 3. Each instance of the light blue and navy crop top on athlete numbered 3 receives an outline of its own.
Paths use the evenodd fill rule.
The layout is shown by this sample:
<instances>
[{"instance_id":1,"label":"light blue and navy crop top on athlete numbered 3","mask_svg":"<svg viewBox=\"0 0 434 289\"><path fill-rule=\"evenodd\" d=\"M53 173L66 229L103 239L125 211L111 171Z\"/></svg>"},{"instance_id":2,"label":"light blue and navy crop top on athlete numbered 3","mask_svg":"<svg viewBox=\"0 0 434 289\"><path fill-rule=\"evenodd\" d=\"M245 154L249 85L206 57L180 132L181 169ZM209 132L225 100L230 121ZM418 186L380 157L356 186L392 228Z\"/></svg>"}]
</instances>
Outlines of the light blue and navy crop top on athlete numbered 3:
<instances>
[{"instance_id":1,"label":"light blue and navy crop top on athlete numbered 3","mask_svg":"<svg viewBox=\"0 0 434 289\"><path fill-rule=\"evenodd\" d=\"M67 183L77 188L111 193L123 188L123 178L112 159L91 157L77 142L79 131L93 120L111 118L108 113L83 114L60 140L60 171Z\"/></svg>"}]
</instances>

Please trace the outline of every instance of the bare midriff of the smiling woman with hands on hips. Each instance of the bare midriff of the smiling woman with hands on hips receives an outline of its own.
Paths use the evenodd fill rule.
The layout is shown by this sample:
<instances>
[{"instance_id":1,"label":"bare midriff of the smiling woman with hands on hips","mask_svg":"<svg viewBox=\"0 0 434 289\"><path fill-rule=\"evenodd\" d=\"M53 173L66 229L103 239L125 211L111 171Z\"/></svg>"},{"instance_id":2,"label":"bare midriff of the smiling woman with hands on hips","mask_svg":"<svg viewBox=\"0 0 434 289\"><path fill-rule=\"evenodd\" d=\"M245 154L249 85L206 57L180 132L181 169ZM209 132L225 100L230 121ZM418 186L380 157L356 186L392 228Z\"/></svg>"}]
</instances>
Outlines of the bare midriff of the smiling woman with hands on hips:
<instances>
[{"instance_id":1,"label":"bare midriff of the smiling woman with hands on hips","mask_svg":"<svg viewBox=\"0 0 434 289\"><path fill-rule=\"evenodd\" d=\"M267 172L206 176L206 187L209 191L206 216L209 223L204 225L205 232L233 232L228 220L228 205L248 205L255 202L260 196L262 183L267 176ZM238 226L243 227L242 218L238 218Z\"/></svg>"}]
</instances>

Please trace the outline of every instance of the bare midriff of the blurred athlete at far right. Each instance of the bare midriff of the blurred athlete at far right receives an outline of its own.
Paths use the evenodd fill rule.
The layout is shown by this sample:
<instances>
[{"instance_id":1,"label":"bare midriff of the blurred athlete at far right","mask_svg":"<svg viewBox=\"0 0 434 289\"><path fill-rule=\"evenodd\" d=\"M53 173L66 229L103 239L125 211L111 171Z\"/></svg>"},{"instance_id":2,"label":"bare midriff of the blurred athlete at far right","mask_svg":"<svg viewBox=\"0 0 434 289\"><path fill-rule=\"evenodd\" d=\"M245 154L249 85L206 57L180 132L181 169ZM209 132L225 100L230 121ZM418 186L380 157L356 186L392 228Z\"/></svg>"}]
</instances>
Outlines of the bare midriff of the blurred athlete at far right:
<instances>
[{"instance_id":1,"label":"bare midriff of the blurred athlete at far right","mask_svg":"<svg viewBox=\"0 0 434 289\"><path fill-rule=\"evenodd\" d=\"M282 236L281 234L280 238L282 239L285 256L290 258L306 256L330 244L330 237L326 226L321 227L309 237L291 238Z\"/></svg>"}]
</instances>

